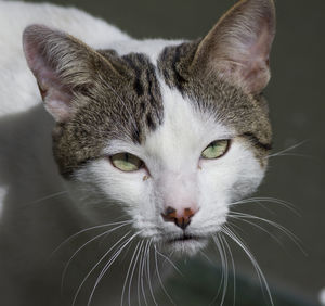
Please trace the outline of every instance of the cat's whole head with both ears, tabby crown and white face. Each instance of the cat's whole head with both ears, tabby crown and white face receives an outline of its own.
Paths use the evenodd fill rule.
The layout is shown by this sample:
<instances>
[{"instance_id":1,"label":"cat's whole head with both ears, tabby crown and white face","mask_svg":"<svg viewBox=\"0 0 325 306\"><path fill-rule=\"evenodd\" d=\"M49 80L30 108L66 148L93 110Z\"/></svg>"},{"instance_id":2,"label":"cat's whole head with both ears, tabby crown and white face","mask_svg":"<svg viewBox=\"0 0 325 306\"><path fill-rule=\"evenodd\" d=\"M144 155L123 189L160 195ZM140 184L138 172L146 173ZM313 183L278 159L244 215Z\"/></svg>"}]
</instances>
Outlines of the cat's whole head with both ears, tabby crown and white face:
<instances>
[{"instance_id":1,"label":"cat's whole head with both ears, tabby crown and white face","mask_svg":"<svg viewBox=\"0 0 325 306\"><path fill-rule=\"evenodd\" d=\"M100 199L142 238L204 246L264 176L274 33L272 0L239 1L203 39L156 61L27 27L25 55L56 122L54 157L80 207Z\"/></svg>"}]
</instances>

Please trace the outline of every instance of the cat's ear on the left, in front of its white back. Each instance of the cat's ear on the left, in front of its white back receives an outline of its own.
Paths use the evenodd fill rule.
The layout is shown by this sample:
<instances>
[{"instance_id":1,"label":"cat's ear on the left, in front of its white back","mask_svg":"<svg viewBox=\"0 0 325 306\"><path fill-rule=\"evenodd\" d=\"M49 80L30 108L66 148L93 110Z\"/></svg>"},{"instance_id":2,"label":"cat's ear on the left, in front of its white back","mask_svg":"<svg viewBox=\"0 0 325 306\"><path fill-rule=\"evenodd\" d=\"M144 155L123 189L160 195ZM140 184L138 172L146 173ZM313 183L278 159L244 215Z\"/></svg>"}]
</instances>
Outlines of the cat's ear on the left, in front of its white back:
<instances>
[{"instance_id":1,"label":"cat's ear on the left, in front of its white back","mask_svg":"<svg viewBox=\"0 0 325 306\"><path fill-rule=\"evenodd\" d=\"M98 67L109 65L75 37L42 25L25 29L23 47L46 109L61 123L70 119L76 112L78 105L74 98L78 89L90 86Z\"/></svg>"}]
</instances>

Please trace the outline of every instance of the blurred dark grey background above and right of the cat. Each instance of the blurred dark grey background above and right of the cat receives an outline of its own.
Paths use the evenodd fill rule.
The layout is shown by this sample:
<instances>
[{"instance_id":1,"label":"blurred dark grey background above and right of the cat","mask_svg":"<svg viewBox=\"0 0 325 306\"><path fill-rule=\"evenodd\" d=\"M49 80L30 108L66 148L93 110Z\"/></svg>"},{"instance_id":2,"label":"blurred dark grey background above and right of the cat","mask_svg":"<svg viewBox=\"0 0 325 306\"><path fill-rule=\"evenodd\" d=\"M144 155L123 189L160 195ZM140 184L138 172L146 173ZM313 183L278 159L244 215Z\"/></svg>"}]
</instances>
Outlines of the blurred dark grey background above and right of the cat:
<instances>
[{"instance_id":1,"label":"blurred dark grey background above and right of the cat","mask_svg":"<svg viewBox=\"0 0 325 306\"><path fill-rule=\"evenodd\" d=\"M50 1L74 5L105 18L139 38L196 38L204 36L235 0L70 0ZM246 205L242 211L272 219L302 242L307 256L283 232L268 233L240 225L242 235L256 255L266 279L284 290L313 301L325 288L325 1L277 0L277 35L265 91L274 128L269 174L257 196L270 196L295 205L300 216L282 205ZM297 146L296 146L297 145ZM272 212L270 212L271 209ZM260 224L262 225L262 224ZM219 260L213 250L210 258ZM253 268L245 255L234 252L236 267ZM260 304L258 304L260 305Z\"/></svg>"}]
</instances>

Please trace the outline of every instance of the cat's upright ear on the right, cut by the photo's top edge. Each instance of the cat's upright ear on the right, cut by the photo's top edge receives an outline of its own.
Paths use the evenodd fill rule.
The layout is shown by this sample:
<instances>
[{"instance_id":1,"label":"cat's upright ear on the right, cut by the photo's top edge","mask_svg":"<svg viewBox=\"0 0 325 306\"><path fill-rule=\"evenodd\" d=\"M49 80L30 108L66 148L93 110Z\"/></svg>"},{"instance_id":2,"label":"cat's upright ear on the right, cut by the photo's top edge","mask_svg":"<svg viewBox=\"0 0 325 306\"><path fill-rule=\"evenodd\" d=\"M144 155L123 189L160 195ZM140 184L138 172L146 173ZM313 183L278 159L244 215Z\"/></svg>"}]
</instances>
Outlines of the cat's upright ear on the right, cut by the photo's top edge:
<instances>
[{"instance_id":1,"label":"cat's upright ear on the right, cut by the photo's top edge","mask_svg":"<svg viewBox=\"0 0 325 306\"><path fill-rule=\"evenodd\" d=\"M269 54L275 35L273 0L242 0L202 40L192 68L260 93L270 79Z\"/></svg>"}]
</instances>

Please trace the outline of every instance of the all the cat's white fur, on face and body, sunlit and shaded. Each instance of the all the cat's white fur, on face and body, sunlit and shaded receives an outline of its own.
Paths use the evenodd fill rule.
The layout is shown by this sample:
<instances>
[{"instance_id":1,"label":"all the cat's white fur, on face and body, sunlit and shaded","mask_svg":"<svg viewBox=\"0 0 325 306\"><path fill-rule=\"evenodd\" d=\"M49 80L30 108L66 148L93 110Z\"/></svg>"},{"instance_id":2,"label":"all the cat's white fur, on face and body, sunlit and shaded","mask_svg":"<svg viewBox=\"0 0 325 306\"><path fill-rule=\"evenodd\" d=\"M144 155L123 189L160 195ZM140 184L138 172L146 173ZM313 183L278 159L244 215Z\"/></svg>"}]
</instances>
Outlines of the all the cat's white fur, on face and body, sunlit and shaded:
<instances>
[{"instance_id":1,"label":"all the cat's white fur, on face and body, sunlit and shaded","mask_svg":"<svg viewBox=\"0 0 325 306\"><path fill-rule=\"evenodd\" d=\"M31 23L63 29L94 48L113 48L120 54L145 52L154 63L165 46L180 41L138 41L76 9L0 1L0 239L5 251L0 253L0 283L5 284L1 298L10 298L8 305L23 305L25 298L29 305L70 305L70 299L61 299L51 289L60 283L60 260L50 271L42 270L51 252L67 237L121 215L153 241L178 237L181 229L165 222L160 215L170 202L180 208L196 205L199 211L188 232L207 237L225 221L229 204L259 184L263 169L237 139L222 158L202 161L200 153L211 141L232 138L234 131L199 113L160 80L164 124L142 146L115 141L103 152L135 154L146 163L150 179L144 179L148 175L145 169L126 174L114 168L108 158L100 158L78 170L76 181L66 184L52 156L53 119L40 103L23 56L22 31ZM195 253L205 243L172 247ZM67 248L63 250L67 255L63 263L77 247L72 242ZM94 264L92 255L78 254L79 266L74 270L77 282L68 283L70 294ZM109 305L119 304L120 273L128 269L129 257L118 263L116 275L109 276L108 299L103 299Z\"/></svg>"}]
</instances>

